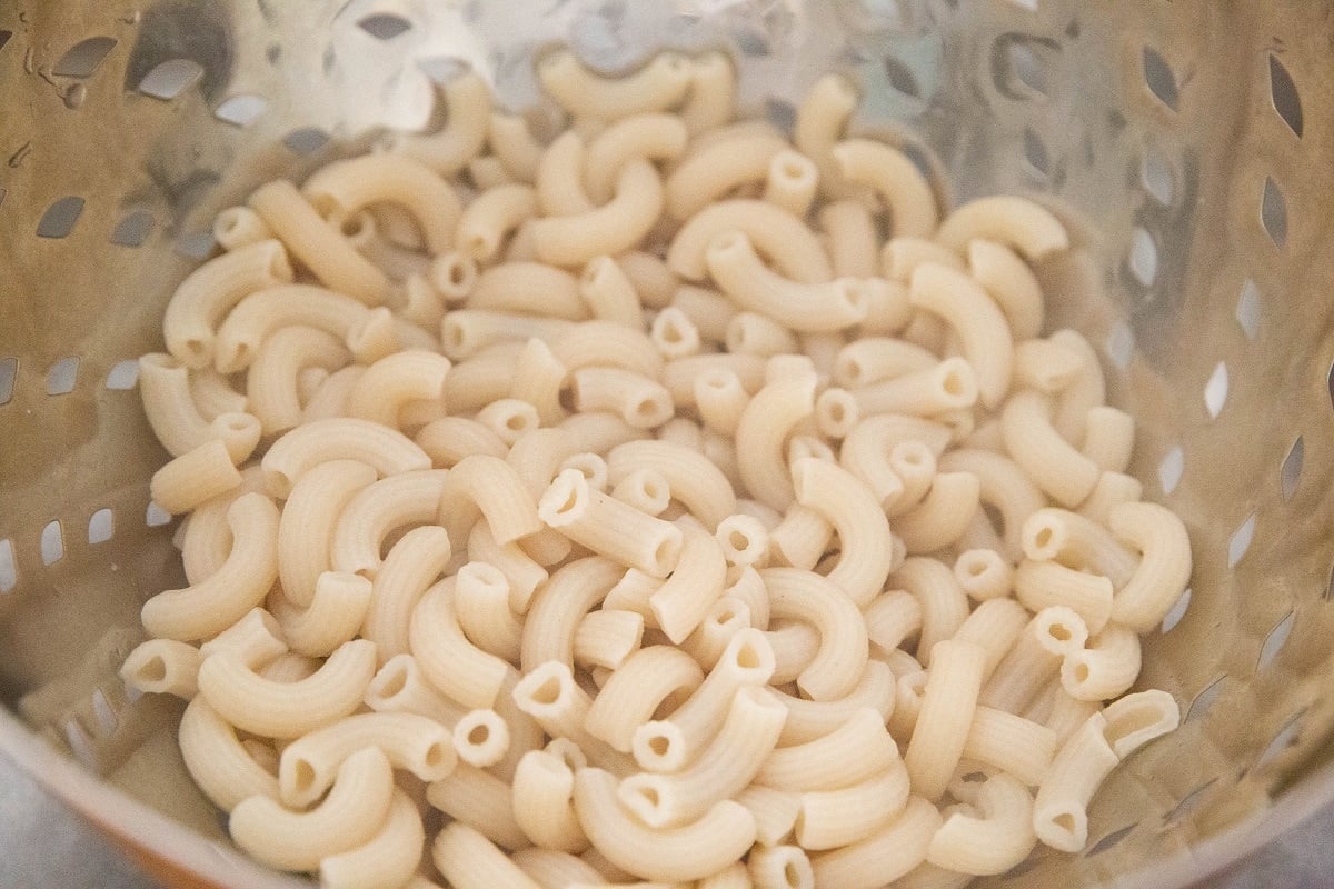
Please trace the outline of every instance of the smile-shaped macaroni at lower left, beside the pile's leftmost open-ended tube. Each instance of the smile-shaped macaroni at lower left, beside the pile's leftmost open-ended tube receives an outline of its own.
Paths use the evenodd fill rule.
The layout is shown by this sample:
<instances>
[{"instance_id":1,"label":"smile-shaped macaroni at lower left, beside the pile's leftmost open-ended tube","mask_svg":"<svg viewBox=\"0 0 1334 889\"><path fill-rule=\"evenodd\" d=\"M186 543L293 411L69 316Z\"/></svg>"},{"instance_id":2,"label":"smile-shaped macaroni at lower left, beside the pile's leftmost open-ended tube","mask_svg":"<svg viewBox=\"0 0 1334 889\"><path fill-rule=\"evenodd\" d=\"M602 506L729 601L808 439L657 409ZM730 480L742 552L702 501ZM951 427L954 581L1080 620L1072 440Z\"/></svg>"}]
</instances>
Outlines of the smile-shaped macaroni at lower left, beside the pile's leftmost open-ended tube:
<instances>
[{"instance_id":1,"label":"smile-shaped macaroni at lower left, beside the pile's leftmost open-ended tube","mask_svg":"<svg viewBox=\"0 0 1334 889\"><path fill-rule=\"evenodd\" d=\"M309 677L279 682L236 656L217 653L199 668L199 693L232 725L275 738L300 737L348 716L375 674L375 644L344 642Z\"/></svg>"}]
</instances>

